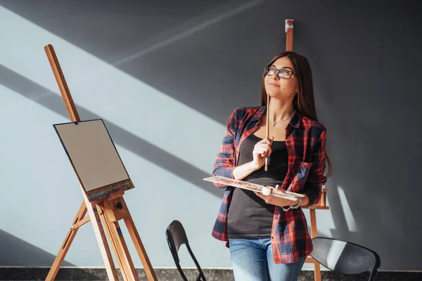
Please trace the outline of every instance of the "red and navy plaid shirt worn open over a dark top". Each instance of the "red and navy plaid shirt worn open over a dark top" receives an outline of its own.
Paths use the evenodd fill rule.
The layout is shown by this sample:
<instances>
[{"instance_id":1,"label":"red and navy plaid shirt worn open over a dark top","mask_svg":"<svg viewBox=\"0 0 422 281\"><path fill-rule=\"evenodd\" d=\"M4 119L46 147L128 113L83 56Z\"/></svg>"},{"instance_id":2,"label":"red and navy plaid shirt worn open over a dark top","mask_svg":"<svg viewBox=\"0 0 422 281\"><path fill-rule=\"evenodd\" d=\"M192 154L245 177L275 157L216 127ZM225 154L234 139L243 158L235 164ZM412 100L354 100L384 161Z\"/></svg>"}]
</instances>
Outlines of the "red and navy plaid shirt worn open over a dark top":
<instances>
[{"instance_id":1,"label":"red and navy plaid shirt worn open over a dark top","mask_svg":"<svg viewBox=\"0 0 422 281\"><path fill-rule=\"evenodd\" d=\"M257 130L266 108L267 106L241 107L234 110L226 125L226 134L215 160L213 176L233 178L241 144ZM309 205L319 201L322 185L327 181L324 176L325 146L325 127L296 110L286 129L288 171L281 188L307 195ZM215 185L226 188L226 191L212 236L218 240L228 241L227 213L234 187L218 183ZM226 245L229 247L228 242ZM271 247L275 263L293 263L312 252L312 240L301 208L283 211L281 207L275 207Z\"/></svg>"}]
</instances>

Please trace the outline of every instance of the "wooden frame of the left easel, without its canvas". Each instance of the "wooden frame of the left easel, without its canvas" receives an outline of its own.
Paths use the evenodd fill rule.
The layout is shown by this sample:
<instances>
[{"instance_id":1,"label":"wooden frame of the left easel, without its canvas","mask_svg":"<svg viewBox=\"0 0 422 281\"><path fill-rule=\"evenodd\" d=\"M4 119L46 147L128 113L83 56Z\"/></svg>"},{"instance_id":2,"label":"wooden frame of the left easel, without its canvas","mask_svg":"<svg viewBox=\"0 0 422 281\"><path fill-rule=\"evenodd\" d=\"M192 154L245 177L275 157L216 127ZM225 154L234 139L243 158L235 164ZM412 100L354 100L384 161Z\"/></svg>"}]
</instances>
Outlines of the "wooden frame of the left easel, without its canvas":
<instances>
[{"instance_id":1,"label":"wooden frame of the left easel, without its canvas","mask_svg":"<svg viewBox=\"0 0 422 281\"><path fill-rule=\"evenodd\" d=\"M73 103L68 84L65 81L65 77L61 70L60 64L58 63L53 46L47 45L44 47L44 50L46 51L47 58L49 58L54 77L56 77L58 88L62 94L70 120L72 122L80 122L81 120L79 119L75 103ZM60 251L58 251L56 259L53 262L53 266L51 266L46 280L54 280L61 263L65 259L65 255L68 252L70 244L72 244L72 241L77 234L77 230L88 221L91 221L92 226L94 227L94 233L96 235L98 246L100 247L104 265L106 266L108 279L119 280L117 277L117 270L113 263L113 256L111 255L110 248L108 247L104 229L106 229L106 233L115 253L117 263L119 263L123 279L128 281L139 280L129 251L127 249L127 245L124 242L124 238L120 230L118 221L121 219L123 219L124 223L126 223L129 234L132 237L132 241L134 242L136 251L142 261L142 265L148 280L157 280L153 267L151 266L151 262L149 261L148 255L146 254L146 251L141 242L141 238L139 237L138 231L136 230L134 221L132 220L132 216L130 215L129 209L127 209L127 205L123 199L124 190L134 188L134 185L129 178L129 180L126 181L123 186L125 188L117 186L117 190L120 188L120 190L117 192L110 192L109 194L104 192L103 196L93 200L87 196L87 192L84 190L84 188L82 188L81 185L84 202L82 202L81 207L79 208L79 211L77 212L77 215L73 220L72 225L70 226L68 235L66 235L65 241L63 242L62 247L60 247ZM129 186L129 188L127 188L127 186ZM96 192L101 194L101 190L96 190ZM89 216L85 218L85 214L87 214L87 212Z\"/></svg>"}]
</instances>

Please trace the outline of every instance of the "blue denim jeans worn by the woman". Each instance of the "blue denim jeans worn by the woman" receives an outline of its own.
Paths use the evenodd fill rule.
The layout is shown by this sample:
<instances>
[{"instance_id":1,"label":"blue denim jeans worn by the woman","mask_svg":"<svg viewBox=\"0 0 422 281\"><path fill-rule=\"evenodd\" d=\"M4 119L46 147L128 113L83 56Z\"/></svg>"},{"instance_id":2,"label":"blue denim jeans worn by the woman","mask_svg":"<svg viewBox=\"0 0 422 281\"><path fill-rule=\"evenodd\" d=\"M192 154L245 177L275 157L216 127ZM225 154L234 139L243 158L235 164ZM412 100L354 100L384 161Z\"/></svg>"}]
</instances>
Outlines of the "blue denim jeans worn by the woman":
<instances>
[{"instance_id":1,"label":"blue denim jeans worn by the woman","mask_svg":"<svg viewBox=\"0 0 422 281\"><path fill-rule=\"evenodd\" d=\"M296 281L305 258L274 263L271 239L230 239L234 279L239 281Z\"/></svg>"}]
</instances>

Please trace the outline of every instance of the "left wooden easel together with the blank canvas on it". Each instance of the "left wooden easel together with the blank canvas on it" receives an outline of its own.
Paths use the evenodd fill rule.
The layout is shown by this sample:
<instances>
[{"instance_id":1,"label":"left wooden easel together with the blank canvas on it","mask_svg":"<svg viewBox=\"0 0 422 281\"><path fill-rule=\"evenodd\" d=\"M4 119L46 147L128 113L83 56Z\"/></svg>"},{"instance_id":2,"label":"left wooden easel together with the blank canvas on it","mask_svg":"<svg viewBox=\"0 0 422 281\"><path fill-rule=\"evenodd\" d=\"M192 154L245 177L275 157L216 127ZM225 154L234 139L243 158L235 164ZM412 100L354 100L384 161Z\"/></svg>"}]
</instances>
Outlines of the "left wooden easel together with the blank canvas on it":
<instances>
[{"instance_id":1,"label":"left wooden easel together with the blank canvas on it","mask_svg":"<svg viewBox=\"0 0 422 281\"><path fill-rule=\"evenodd\" d=\"M106 233L123 280L139 280L119 226L119 221L123 220L148 280L156 281L154 269L123 198L124 192L134 188L134 185L124 168L106 125L102 119L80 120L53 46L47 45L44 49L71 121L53 126L79 179L84 198L46 280L54 280L77 230L89 221L94 228L109 280L119 280L119 278ZM89 216L85 217L87 213Z\"/></svg>"}]
</instances>

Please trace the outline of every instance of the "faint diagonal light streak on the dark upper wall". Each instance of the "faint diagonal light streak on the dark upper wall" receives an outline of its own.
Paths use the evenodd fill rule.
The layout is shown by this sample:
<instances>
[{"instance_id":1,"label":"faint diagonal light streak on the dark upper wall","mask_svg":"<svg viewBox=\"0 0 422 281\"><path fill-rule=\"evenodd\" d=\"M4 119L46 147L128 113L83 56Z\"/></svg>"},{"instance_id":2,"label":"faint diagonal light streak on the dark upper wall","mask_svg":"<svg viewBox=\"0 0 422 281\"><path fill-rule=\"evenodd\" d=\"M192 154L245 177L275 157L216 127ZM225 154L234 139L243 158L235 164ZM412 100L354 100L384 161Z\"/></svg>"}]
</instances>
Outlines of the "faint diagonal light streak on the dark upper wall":
<instances>
[{"instance_id":1,"label":"faint diagonal light streak on the dark upper wall","mask_svg":"<svg viewBox=\"0 0 422 281\"><path fill-rule=\"evenodd\" d=\"M143 55L156 51L159 48L172 44L173 42L178 41L196 32L199 32L200 30L204 30L205 28L210 27L211 25L215 25L216 23L221 22L226 18L231 18L232 16L237 15L238 13L248 10L249 8L255 7L263 3L264 1L267 0L253 0L248 2L240 1L240 5L234 8L232 7L234 6L234 4L229 3L215 9L215 11L207 13L206 15L199 15L198 17L188 20L188 22L185 22L183 25L178 26L173 30L164 32L153 39L147 40L146 43L143 44L143 47L141 47L143 48L142 51L136 51L132 55L127 55L126 58L117 60L115 63L113 63L113 65L122 65L123 63L127 63L130 60L134 60ZM203 18L210 19L204 21ZM139 47L136 49L139 49Z\"/></svg>"}]
</instances>

